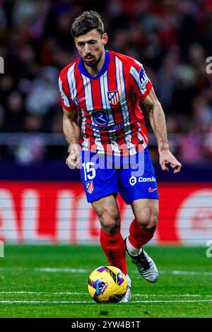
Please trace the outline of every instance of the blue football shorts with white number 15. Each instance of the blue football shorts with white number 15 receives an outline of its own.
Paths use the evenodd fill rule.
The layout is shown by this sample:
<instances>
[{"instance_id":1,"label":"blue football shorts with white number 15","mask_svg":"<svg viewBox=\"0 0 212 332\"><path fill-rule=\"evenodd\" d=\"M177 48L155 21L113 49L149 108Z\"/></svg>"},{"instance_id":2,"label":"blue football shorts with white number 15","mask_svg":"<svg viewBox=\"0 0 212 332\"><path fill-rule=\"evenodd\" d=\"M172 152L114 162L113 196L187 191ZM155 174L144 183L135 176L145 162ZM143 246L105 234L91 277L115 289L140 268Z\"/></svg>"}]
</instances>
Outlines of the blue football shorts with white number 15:
<instances>
[{"instance_id":1,"label":"blue football shorts with white number 15","mask_svg":"<svg viewBox=\"0 0 212 332\"><path fill-rule=\"evenodd\" d=\"M88 203L118 192L126 204L159 198L148 148L127 157L81 151L81 178Z\"/></svg>"}]
</instances>

